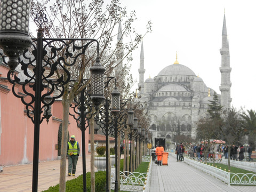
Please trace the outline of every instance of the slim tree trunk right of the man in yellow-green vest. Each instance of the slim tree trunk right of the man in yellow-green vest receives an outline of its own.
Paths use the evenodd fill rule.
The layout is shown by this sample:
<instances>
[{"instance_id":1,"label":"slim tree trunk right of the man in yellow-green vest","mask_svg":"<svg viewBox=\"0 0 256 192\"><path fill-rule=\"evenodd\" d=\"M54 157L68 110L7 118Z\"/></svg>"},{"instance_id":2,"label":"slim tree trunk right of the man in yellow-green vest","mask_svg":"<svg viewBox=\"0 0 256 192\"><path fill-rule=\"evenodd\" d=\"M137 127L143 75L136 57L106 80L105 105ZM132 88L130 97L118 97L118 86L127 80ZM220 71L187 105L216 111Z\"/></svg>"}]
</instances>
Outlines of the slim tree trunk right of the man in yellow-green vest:
<instances>
[{"instance_id":1,"label":"slim tree trunk right of the man in yellow-green vest","mask_svg":"<svg viewBox=\"0 0 256 192\"><path fill-rule=\"evenodd\" d=\"M91 119L94 119L94 115ZM95 170L94 170L94 121L90 121L91 140L91 191L95 191Z\"/></svg>"}]
</instances>

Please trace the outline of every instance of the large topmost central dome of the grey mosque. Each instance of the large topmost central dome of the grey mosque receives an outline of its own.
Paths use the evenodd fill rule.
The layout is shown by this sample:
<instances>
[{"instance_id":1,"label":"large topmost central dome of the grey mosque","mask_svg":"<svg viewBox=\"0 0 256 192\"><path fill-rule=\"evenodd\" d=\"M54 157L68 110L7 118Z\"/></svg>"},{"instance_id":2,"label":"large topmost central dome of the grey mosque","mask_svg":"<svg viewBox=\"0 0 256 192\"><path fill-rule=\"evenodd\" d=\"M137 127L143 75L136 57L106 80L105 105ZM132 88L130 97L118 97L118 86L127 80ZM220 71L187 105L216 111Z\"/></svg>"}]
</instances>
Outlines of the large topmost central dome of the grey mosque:
<instances>
[{"instance_id":1,"label":"large topmost central dome of the grey mosque","mask_svg":"<svg viewBox=\"0 0 256 192\"><path fill-rule=\"evenodd\" d=\"M193 72L193 70L189 69L188 67L181 65L181 64L173 64L170 66L167 66L163 68L157 76L163 76L163 75L193 75L196 76L196 74Z\"/></svg>"}]
</instances>

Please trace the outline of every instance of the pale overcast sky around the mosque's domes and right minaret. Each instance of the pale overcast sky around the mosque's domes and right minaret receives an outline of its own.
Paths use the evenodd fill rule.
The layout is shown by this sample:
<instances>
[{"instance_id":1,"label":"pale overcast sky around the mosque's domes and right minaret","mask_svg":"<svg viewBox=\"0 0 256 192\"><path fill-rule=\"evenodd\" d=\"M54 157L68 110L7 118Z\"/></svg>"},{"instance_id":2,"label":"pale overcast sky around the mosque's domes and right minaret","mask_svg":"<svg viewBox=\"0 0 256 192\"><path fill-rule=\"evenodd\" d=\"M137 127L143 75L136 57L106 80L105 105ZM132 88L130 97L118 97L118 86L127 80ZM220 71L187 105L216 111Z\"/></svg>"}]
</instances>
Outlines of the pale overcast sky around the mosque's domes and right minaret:
<instances>
[{"instance_id":1,"label":"pale overcast sky around the mosque's domes and right minaret","mask_svg":"<svg viewBox=\"0 0 256 192\"><path fill-rule=\"evenodd\" d=\"M143 38L146 80L175 61L189 67L220 94L221 33L224 10L230 49L231 105L256 110L256 11L253 0L122 0L135 10L140 34L147 21L153 31ZM133 52L132 71L139 81L140 46ZM137 87L137 86L136 86ZM135 89L135 87L134 87Z\"/></svg>"}]
</instances>

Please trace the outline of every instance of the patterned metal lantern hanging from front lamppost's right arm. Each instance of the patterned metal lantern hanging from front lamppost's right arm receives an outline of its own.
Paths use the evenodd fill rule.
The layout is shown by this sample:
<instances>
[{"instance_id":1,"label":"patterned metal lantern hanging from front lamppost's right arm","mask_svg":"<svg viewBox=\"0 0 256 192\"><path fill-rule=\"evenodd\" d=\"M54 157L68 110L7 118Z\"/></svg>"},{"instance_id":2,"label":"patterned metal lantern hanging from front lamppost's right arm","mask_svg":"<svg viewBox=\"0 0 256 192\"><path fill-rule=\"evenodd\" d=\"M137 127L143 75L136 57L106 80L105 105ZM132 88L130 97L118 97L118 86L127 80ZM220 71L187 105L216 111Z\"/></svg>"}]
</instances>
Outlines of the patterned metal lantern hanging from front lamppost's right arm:
<instances>
[{"instance_id":1,"label":"patterned metal lantern hanging from front lamppost's right arm","mask_svg":"<svg viewBox=\"0 0 256 192\"><path fill-rule=\"evenodd\" d=\"M104 97L104 72L105 68L101 66L100 59L96 59L95 64L90 68L91 71L91 100L98 109L105 100Z\"/></svg>"}]
</instances>

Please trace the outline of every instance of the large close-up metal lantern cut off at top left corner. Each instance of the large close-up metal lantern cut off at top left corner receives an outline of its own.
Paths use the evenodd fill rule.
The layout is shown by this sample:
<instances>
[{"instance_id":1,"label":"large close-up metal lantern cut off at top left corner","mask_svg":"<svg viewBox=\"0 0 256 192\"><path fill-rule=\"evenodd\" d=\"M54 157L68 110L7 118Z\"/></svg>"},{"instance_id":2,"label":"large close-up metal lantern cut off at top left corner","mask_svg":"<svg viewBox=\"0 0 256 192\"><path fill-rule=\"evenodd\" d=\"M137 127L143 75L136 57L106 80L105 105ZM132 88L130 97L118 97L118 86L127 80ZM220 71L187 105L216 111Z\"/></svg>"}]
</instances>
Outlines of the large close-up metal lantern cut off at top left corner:
<instances>
[{"instance_id":1,"label":"large close-up metal lantern cut off at top left corner","mask_svg":"<svg viewBox=\"0 0 256 192\"><path fill-rule=\"evenodd\" d=\"M0 6L0 48L9 57L8 66L14 73L18 58L32 45L29 37L29 0L2 0Z\"/></svg>"}]
</instances>

